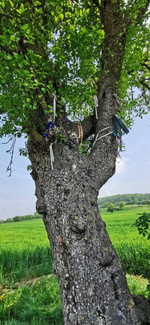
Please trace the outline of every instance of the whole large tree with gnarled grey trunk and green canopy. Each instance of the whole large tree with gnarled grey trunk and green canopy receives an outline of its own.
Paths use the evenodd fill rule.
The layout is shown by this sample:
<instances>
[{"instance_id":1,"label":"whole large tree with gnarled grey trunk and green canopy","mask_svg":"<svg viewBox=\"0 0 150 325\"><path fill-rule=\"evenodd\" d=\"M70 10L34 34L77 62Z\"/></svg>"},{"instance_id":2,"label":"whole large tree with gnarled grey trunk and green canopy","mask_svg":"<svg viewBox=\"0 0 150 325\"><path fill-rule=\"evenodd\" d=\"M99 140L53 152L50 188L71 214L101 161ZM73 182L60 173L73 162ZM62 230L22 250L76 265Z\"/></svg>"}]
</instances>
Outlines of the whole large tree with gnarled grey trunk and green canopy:
<instances>
[{"instance_id":1,"label":"whole large tree with gnarled grey trunk and green canopy","mask_svg":"<svg viewBox=\"0 0 150 325\"><path fill-rule=\"evenodd\" d=\"M148 5L149 0L0 2L0 136L12 141L12 153L16 137L27 139L36 210L50 241L65 325L146 322L96 201L115 172L113 94L124 99L131 87L134 54L143 62ZM118 114L131 125L130 111L137 115L138 108L121 108ZM10 173L11 163L12 156Z\"/></svg>"}]
</instances>

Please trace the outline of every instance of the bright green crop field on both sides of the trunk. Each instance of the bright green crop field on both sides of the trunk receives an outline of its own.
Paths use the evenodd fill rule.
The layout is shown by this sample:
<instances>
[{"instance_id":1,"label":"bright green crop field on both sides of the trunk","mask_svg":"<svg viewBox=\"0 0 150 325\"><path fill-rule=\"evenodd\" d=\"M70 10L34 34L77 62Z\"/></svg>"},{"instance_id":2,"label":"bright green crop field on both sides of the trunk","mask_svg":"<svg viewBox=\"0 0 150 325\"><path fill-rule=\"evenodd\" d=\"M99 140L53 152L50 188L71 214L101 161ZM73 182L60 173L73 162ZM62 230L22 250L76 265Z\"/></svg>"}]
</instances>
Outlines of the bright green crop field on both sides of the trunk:
<instances>
[{"instance_id":1,"label":"bright green crop field on both sides of the trunk","mask_svg":"<svg viewBox=\"0 0 150 325\"><path fill-rule=\"evenodd\" d=\"M148 212L145 206L129 207L123 210L100 211L110 240L120 262L130 274L149 277L149 241L138 235L131 227L136 214ZM52 256L47 234L41 219L13 222L0 225L0 278L15 281L24 277L52 273Z\"/></svg>"}]
</instances>

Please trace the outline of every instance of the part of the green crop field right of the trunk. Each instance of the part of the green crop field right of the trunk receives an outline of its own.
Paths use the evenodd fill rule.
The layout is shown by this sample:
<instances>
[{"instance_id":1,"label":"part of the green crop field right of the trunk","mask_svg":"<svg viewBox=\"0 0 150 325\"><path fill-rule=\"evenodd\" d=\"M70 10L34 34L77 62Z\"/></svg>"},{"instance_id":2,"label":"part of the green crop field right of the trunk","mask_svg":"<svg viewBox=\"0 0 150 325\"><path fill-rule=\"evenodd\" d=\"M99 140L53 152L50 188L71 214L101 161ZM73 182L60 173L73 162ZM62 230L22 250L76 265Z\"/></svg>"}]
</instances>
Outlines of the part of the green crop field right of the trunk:
<instances>
[{"instance_id":1,"label":"part of the green crop field right of the trunk","mask_svg":"<svg viewBox=\"0 0 150 325\"><path fill-rule=\"evenodd\" d=\"M149 278L150 241L139 235L136 227L131 227L139 217L137 213L142 212L150 212L150 209L146 206L126 206L113 213L106 209L100 213L125 272Z\"/></svg>"}]
</instances>

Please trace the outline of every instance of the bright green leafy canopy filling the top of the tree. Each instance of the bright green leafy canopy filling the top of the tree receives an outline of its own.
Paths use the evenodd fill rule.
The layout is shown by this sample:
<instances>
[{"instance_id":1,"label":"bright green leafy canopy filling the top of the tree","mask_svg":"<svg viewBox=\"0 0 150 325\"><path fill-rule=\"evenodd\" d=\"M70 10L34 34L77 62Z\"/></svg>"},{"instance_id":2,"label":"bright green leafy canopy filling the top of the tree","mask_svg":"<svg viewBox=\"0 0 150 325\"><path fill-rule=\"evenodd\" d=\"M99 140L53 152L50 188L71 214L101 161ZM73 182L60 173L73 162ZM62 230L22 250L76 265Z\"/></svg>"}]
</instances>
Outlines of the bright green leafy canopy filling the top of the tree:
<instances>
[{"instance_id":1,"label":"bright green leafy canopy filling the top of the tree","mask_svg":"<svg viewBox=\"0 0 150 325\"><path fill-rule=\"evenodd\" d=\"M146 113L145 103L149 109L144 85L149 78L149 29L143 22L135 27L137 8L144 5L144 0L133 6L131 1L120 1L121 12L128 8L128 18L132 17L118 84L119 96L128 97L122 117L129 125L132 114ZM0 137L28 135L37 122L39 107L38 123L44 129L53 94L57 95L59 116L64 109L73 119L91 115L104 37L94 1L0 2ZM144 91L144 106L138 108L141 98L133 98L133 87Z\"/></svg>"}]
</instances>

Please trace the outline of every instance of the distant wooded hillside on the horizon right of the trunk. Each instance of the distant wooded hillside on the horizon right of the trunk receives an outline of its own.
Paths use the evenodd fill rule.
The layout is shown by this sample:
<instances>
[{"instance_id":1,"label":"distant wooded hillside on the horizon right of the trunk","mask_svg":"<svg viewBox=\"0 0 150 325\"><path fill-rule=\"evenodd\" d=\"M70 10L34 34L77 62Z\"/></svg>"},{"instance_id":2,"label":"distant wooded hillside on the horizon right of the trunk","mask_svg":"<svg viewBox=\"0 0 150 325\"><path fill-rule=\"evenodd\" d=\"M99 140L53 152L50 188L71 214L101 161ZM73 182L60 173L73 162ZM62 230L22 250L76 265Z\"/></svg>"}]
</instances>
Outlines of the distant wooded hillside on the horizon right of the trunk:
<instances>
[{"instance_id":1,"label":"distant wooded hillside on the horizon right of the trunk","mask_svg":"<svg viewBox=\"0 0 150 325\"><path fill-rule=\"evenodd\" d=\"M117 204L118 202L124 201L125 205L129 204L148 204L147 201L150 201L150 194L117 194L104 198L99 198L97 200L98 206L105 204L106 202L110 202L113 204Z\"/></svg>"}]
</instances>

